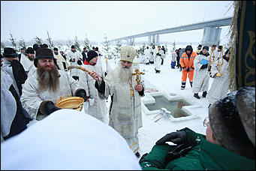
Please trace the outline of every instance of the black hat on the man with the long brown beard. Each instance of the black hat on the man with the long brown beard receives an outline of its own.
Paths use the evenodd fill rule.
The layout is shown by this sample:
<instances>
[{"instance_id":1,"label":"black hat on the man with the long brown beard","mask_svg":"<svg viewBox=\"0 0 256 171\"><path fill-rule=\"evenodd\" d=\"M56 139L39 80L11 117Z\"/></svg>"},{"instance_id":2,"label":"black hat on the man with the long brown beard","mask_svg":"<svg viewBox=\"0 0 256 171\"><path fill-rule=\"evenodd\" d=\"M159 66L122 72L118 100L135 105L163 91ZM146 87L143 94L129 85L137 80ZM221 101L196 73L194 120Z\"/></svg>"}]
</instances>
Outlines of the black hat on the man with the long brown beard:
<instances>
[{"instance_id":1,"label":"black hat on the man with the long brown beard","mask_svg":"<svg viewBox=\"0 0 256 171\"><path fill-rule=\"evenodd\" d=\"M53 55L53 50L49 48L39 48L37 51L35 51L35 60L34 60L34 65L37 68L38 67L38 59L39 58L53 58L54 63L56 64L56 58L54 58Z\"/></svg>"}]
</instances>

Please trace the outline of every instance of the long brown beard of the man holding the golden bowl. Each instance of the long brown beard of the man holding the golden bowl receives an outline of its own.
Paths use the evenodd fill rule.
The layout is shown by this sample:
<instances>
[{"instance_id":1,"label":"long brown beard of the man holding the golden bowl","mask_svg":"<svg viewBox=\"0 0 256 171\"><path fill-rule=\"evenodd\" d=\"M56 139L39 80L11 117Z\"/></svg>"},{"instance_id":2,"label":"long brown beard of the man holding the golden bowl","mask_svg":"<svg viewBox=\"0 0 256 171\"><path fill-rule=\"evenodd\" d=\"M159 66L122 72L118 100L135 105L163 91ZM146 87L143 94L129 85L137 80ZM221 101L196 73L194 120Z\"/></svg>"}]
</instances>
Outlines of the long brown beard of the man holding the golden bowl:
<instances>
[{"instance_id":1,"label":"long brown beard of the man holding the golden bowl","mask_svg":"<svg viewBox=\"0 0 256 171\"><path fill-rule=\"evenodd\" d=\"M42 92L47 89L56 92L59 88L59 71L54 65L50 71L47 71L45 67L37 69L38 74L38 91Z\"/></svg>"}]
</instances>

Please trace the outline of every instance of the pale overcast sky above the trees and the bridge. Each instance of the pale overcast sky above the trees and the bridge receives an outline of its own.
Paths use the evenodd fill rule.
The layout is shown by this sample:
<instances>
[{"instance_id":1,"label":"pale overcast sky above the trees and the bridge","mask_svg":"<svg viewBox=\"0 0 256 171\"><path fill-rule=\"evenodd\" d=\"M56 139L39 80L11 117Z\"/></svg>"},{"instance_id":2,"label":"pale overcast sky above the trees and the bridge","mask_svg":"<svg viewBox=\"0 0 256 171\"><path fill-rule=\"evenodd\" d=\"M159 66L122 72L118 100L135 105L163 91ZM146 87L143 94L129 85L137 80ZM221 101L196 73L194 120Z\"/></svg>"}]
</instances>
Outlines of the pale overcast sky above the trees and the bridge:
<instances>
[{"instance_id":1,"label":"pale overcast sky above the trees and the bridge","mask_svg":"<svg viewBox=\"0 0 256 171\"><path fill-rule=\"evenodd\" d=\"M1 1L1 41L110 39L233 17L233 1ZM229 26L222 27L221 40ZM200 41L203 29L161 34L160 40ZM135 39L136 40L136 39ZM137 40L147 40L147 37Z\"/></svg>"}]
</instances>

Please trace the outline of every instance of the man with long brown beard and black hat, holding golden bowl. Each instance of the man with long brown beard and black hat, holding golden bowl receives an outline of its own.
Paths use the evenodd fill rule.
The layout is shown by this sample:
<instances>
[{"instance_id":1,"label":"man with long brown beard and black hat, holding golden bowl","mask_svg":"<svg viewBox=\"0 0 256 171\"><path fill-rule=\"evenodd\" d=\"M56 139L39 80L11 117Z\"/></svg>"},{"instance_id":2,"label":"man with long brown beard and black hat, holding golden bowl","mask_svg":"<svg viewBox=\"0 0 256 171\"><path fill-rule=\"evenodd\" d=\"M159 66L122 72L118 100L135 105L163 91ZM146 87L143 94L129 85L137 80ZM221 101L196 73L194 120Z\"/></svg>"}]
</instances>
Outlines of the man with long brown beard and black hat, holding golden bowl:
<instances>
[{"instance_id":1,"label":"man with long brown beard and black hat, holding golden bowl","mask_svg":"<svg viewBox=\"0 0 256 171\"><path fill-rule=\"evenodd\" d=\"M86 100L86 91L65 71L56 67L53 51L40 48L35 52L36 73L23 85L21 103L32 118L41 120L56 110L56 98L79 96Z\"/></svg>"}]
</instances>

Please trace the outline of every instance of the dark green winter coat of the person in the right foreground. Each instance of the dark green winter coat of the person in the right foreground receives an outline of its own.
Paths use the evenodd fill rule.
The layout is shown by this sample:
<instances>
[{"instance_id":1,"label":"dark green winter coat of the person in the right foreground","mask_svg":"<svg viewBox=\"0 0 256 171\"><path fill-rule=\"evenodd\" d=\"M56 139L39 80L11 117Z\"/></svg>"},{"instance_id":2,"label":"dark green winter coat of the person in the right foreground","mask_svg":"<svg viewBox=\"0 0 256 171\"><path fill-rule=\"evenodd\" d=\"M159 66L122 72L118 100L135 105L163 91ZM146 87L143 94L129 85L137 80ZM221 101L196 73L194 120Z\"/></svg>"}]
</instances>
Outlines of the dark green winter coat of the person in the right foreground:
<instances>
[{"instance_id":1,"label":"dark green winter coat of the person in the right foreground","mask_svg":"<svg viewBox=\"0 0 256 171\"><path fill-rule=\"evenodd\" d=\"M195 133L193 130L185 130L188 133L188 142L194 147L185 154L170 162L167 154L173 146L165 143L164 145L154 145L152 151L140 160L142 169L255 169L255 160L234 154L220 145L215 145L206 141L206 136ZM196 140L199 137L200 142Z\"/></svg>"}]
</instances>

